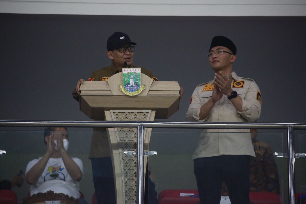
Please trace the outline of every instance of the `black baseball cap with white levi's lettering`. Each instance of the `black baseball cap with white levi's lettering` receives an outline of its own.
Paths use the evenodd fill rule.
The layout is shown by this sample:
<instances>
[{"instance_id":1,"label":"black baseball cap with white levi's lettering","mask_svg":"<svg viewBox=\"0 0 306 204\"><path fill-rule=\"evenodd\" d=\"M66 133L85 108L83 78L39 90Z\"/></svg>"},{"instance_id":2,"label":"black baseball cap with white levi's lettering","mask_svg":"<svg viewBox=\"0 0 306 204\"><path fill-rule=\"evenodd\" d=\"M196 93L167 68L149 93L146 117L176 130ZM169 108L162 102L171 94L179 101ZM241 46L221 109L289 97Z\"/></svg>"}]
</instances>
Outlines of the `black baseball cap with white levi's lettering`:
<instances>
[{"instance_id":1,"label":"black baseball cap with white levi's lettering","mask_svg":"<svg viewBox=\"0 0 306 204\"><path fill-rule=\"evenodd\" d=\"M125 44L136 45L136 43L131 42L129 36L124 32L114 32L114 34L108 38L106 48L107 50L115 50Z\"/></svg>"}]
</instances>

